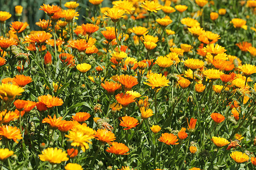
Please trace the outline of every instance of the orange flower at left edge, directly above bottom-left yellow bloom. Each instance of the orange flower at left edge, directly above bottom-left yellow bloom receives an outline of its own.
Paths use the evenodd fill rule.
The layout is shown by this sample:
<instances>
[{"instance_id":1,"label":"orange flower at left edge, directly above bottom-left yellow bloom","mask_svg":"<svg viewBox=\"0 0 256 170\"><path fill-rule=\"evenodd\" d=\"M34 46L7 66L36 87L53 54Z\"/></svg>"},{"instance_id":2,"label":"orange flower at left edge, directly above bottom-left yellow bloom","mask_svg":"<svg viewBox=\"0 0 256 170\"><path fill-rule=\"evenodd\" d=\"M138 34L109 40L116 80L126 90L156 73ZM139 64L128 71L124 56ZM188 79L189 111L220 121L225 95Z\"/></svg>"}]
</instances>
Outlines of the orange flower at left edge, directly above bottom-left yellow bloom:
<instances>
[{"instance_id":1,"label":"orange flower at left edge, directly above bottom-left yellow bloom","mask_svg":"<svg viewBox=\"0 0 256 170\"><path fill-rule=\"evenodd\" d=\"M6 139L12 139L15 143L18 143L17 139L22 139L20 130L17 127L12 127L8 125L0 126L0 136Z\"/></svg>"}]
</instances>

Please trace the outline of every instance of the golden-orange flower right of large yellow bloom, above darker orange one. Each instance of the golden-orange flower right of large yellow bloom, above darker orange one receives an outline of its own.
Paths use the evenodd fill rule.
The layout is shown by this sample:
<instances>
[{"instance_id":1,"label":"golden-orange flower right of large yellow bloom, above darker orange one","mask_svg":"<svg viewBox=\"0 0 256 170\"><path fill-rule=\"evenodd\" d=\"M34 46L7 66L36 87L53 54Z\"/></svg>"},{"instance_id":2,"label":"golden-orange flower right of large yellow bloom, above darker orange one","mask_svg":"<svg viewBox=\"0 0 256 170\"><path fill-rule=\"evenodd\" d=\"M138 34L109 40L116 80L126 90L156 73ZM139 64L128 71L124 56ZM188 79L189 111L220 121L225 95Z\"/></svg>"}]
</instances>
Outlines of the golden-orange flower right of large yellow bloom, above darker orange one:
<instances>
[{"instance_id":1,"label":"golden-orange flower right of large yellow bloom, above darker orange one","mask_svg":"<svg viewBox=\"0 0 256 170\"><path fill-rule=\"evenodd\" d=\"M95 139L102 143L110 143L115 140L115 134L106 129L98 129L95 133Z\"/></svg>"}]
</instances>

